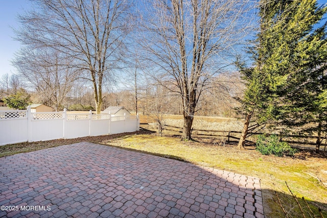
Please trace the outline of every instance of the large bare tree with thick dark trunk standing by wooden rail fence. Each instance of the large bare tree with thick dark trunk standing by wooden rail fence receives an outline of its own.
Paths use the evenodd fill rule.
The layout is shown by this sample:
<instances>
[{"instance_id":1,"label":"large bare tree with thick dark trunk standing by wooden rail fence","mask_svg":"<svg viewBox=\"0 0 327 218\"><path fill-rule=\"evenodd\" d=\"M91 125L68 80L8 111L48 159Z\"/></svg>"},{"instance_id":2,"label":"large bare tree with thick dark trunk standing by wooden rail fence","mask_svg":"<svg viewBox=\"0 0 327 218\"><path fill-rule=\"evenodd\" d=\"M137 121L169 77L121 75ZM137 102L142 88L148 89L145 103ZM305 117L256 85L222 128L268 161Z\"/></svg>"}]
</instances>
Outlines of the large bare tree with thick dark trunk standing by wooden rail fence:
<instances>
[{"instance_id":1,"label":"large bare tree with thick dark trunk standing by wooden rail fence","mask_svg":"<svg viewBox=\"0 0 327 218\"><path fill-rule=\"evenodd\" d=\"M211 77L220 72L250 30L250 1L155 0L145 4L141 43L150 74L178 93L183 139L191 139L196 106Z\"/></svg>"}]
</instances>

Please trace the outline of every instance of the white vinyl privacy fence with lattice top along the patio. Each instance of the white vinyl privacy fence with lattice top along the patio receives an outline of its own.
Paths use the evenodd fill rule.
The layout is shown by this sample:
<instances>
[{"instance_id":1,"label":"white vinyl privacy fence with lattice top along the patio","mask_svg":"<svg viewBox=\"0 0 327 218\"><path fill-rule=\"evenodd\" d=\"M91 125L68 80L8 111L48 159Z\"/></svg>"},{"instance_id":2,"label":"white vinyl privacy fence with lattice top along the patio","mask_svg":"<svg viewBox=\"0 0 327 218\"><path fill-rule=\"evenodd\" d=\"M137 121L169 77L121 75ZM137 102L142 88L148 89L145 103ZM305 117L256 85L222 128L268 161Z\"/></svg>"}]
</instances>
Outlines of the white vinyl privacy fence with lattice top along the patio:
<instances>
[{"instance_id":1,"label":"white vinyl privacy fence with lattice top along the patio","mask_svg":"<svg viewBox=\"0 0 327 218\"><path fill-rule=\"evenodd\" d=\"M139 130L138 116L27 110L0 111L0 146L25 141L99 136Z\"/></svg>"}]
</instances>

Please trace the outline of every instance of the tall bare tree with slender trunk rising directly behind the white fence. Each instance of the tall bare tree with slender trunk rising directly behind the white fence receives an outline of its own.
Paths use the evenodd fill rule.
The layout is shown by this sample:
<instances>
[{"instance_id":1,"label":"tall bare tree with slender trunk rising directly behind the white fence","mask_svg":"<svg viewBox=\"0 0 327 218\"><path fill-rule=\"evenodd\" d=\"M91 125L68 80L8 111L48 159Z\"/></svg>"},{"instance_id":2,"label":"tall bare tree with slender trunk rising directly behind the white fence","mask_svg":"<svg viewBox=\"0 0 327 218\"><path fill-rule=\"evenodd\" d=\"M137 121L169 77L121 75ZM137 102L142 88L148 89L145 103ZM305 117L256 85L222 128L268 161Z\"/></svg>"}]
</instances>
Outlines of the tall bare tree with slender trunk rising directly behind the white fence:
<instances>
[{"instance_id":1,"label":"tall bare tree with slender trunk rising directly behind the white fence","mask_svg":"<svg viewBox=\"0 0 327 218\"><path fill-rule=\"evenodd\" d=\"M51 47L74 59L91 82L97 113L102 106L102 84L119 62L126 35L124 0L34 0L35 10L18 17L16 39L31 47Z\"/></svg>"}]
</instances>

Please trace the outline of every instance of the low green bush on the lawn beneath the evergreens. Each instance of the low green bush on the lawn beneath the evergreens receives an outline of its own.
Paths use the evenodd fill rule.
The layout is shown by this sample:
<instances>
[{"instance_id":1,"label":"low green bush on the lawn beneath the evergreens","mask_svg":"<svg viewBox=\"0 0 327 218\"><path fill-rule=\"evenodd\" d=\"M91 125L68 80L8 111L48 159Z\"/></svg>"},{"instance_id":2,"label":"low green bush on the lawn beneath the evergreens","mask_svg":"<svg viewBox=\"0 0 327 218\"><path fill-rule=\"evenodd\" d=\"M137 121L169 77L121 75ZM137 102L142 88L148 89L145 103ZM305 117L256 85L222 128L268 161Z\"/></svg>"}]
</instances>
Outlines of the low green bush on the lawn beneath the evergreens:
<instances>
[{"instance_id":1,"label":"low green bush on the lawn beneath the evergreens","mask_svg":"<svg viewBox=\"0 0 327 218\"><path fill-rule=\"evenodd\" d=\"M259 135L255 150L264 155L273 154L278 157L293 156L296 152L296 149L292 149L287 142L280 141L276 135Z\"/></svg>"}]
</instances>

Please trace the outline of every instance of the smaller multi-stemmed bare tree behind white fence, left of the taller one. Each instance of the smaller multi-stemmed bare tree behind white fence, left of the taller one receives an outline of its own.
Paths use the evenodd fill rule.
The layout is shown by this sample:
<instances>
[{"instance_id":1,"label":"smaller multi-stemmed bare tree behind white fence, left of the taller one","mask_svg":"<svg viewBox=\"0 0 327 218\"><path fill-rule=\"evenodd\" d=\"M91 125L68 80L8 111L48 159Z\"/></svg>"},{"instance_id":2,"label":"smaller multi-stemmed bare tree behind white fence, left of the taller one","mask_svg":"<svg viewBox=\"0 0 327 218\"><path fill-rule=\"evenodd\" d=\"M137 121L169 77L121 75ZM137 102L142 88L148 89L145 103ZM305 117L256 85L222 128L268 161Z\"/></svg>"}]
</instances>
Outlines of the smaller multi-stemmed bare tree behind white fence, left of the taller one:
<instances>
[{"instance_id":1,"label":"smaller multi-stemmed bare tree behind white fence, left of the taller one","mask_svg":"<svg viewBox=\"0 0 327 218\"><path fill-rule=\"evenodd\" d=\"M22 80L34 89L36 101L52 106L57 111L77 79L73 59L60 57L51 49L21 49L13 65Z\"/></svg>"}]
</instances>

